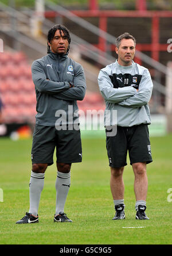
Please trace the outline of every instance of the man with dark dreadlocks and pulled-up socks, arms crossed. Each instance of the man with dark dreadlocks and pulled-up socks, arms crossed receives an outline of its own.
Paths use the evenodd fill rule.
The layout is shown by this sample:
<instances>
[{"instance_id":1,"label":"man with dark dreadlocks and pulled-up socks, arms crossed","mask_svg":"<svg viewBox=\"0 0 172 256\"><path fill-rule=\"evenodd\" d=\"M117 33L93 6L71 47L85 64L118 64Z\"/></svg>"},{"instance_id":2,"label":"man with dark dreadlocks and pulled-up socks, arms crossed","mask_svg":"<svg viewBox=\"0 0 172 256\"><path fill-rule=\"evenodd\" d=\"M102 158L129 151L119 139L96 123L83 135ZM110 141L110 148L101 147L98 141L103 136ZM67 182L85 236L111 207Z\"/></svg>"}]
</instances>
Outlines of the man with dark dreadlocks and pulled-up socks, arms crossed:
<instances>
[{"instance_id":1,"label":"man with dark dreadlocks and pulled-up socks, arms crossed","mask_svg":"<svg viewBox=\"0 0 172 256\"><path fill-rule=\"evenodd\" d=\"M17 224L38 222L45 170L53 164L55 147L57 178L54 222L72 222L64 213L64 205L71 185L71 165L82 161L76 101L83 100L86 83L83 67L68 57L70 43L68 29L54 25L48 32L48 55L32 64L37 114L29 184L30 208Z\"/></svg>"}]
</instances>

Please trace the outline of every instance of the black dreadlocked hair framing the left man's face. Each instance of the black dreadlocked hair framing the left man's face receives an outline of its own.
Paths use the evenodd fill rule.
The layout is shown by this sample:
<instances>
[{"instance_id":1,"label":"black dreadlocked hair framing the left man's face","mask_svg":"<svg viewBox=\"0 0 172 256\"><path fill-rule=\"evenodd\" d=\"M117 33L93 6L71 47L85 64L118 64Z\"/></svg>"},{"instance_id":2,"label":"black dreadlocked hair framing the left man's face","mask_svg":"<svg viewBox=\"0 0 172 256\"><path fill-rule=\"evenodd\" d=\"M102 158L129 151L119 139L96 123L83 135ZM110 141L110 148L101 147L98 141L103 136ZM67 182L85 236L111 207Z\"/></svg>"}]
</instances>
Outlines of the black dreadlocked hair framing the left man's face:
<instances>
[{"instance_id":1,"label":"black dreadlocked hair framing the left man's face","mask_svg":"<svg viewBox=\"0 0 172 256\"><path fill-rule=\"evenodd\" d=\"M69 30L64 26L64 25L54 25L52 26L52 28L50 28L49 32L48 32L48 36L47 36L47 53L50 53L50 46L48 45L48 43L50 43L54 37L54 34L56 33L56 30L60 30L60 35L61 35L61 31L64 33L64 35L67 37L68 39L68 43L71 43L71 36L69 34ZM69 51L69 47L68 47L68 51ZM67 53L68 53L67 51Z\"/></svg>"}]
</instances>

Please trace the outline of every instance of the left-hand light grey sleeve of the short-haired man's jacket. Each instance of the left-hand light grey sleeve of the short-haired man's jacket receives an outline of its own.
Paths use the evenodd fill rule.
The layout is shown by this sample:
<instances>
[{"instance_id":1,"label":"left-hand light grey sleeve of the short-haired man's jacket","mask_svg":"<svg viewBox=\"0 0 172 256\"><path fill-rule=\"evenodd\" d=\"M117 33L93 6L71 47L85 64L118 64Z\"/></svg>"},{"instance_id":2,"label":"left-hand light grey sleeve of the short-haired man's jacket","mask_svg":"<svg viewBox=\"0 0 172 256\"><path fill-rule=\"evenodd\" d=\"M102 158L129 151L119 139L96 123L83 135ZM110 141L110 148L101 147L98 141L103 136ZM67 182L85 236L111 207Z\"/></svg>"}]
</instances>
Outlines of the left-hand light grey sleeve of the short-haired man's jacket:
<instances>
[{"instance_id":1,"label":"left-hand light grey sleeve of the short-haired man's jacket","mask_svg":"<svg viewBox=\"0 0 172 256\"><path fill-rule=\"evenodd\" d=\"M109 75L103 70L100 70L99 72L98 83L100 92L103 95L105 101L118 103L136 94L136 89L132 86L118 89L114 88Z\"/></svg>"}]
</instances>

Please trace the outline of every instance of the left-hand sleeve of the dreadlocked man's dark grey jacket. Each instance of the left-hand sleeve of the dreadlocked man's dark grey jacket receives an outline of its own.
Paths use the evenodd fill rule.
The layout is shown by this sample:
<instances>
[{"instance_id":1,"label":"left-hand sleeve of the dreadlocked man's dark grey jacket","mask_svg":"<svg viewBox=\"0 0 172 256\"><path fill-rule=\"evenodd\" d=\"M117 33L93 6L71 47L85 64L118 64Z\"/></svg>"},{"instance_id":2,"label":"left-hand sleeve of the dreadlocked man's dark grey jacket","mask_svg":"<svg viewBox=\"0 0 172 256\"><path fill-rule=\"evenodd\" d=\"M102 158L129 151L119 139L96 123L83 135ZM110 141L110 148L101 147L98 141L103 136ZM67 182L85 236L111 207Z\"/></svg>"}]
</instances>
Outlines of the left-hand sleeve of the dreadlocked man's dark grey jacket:
<instances>
[{"instance_id":1,"label":"left-hand sleeve of the dreadlocked man's dark grey jacket","mask_svg":"<svg viewBox=\"0 0 172 256\"><path fill-rule=\"evenodd\" d=\"M44 66L37 60L32 64L32 79L36 89L40 91L40 93L56 94L70 87L68 82L46 80Z\"/></svg>"}]
</instances>

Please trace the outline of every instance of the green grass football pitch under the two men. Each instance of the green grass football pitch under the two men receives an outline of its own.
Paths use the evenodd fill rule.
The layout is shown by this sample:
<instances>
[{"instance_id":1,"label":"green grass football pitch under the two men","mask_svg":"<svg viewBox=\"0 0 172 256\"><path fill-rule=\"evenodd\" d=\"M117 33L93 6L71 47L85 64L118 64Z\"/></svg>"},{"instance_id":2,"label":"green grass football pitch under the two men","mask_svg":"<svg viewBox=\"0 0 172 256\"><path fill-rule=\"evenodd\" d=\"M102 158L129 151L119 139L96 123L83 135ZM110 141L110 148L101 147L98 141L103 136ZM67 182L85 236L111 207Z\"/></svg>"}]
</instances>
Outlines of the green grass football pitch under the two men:
<instances>
[{"instance_id":1,"label":"green grass football pitch under the two men","mask_svg":"<svg viewBox=\"0 0 172 256\"><path fill-rule=\"evenodd\" d=\"M32 139L1 138L0 244L171 244L172 134L150 140L154 160L147 165L146 214L150 220L135 220L134 174L129 161L124 170L126 219L112 220L115 211L105 138L83 138L83 162L72 165L71 188L65 204L65 213L73 223L53 222L54 164L46 170L39 223L17 225L15 222L29 211Z\"/></svg>"}]
</instances>

